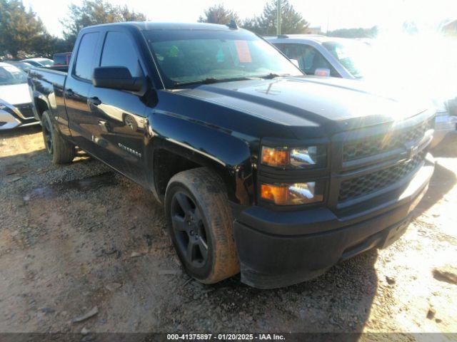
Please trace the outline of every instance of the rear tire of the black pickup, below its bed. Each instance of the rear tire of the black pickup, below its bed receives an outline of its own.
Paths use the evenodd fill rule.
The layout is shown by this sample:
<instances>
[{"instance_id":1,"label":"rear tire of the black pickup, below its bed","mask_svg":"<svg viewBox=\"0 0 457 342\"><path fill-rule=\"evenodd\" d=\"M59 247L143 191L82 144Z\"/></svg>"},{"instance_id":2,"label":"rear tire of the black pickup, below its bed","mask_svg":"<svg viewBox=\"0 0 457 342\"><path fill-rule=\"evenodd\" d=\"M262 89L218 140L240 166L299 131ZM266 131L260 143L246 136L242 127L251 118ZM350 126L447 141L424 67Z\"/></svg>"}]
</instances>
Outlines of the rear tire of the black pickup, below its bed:
<instances>
[{"instance_id":1,"label":"rear tire of the black pickup, below its bed","mask_svg":"<svg viewBox=\"0 0 457 342\"><path fill-rule=\"evenodd\" d=\"M61 133L54 129L48 111L41 115L41 129L43 130L44 146L52 156L54 164L67 164L74 159L75 147L66 141Z\"/></svg>"}]
</instances>

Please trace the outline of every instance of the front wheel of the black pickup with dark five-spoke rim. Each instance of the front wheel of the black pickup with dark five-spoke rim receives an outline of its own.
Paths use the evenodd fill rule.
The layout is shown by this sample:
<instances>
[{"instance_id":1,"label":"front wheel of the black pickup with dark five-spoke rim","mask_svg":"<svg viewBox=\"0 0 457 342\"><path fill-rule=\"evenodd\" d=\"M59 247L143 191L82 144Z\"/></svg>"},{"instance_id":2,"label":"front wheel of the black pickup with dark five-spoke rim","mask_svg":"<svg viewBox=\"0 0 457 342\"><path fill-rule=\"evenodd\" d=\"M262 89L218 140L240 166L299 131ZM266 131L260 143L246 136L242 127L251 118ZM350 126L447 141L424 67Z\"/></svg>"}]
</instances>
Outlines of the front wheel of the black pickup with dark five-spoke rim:
<instances>
[{"instance_id":1,"label":"front wheel of the black pickup with dark five-spoke rim","mask_svg":"<svg viewBox=\"0 0 457 342\"><path fill-rule=\"evenodd\" d=\"M206 167L174 175L166 188L165 213L171 241L190 276L214 284L239 272L229 199L218 175Z\"/></svg>"}]
</instances>

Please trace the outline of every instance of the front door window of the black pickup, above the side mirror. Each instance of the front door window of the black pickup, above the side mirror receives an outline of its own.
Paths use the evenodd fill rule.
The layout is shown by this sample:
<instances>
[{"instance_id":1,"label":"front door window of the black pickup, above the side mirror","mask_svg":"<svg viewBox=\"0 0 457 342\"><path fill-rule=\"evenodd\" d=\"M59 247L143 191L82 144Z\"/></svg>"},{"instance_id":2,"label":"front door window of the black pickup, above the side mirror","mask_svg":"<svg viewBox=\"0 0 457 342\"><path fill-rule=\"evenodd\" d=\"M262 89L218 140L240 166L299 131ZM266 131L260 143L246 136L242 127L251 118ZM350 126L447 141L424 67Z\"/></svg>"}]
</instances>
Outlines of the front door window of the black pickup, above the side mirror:
<instances>
[{"instance_id":1,"label":"front door window of the black pickup, above the side mirror","mask_svg":"<svg viewBox=\"0 0 457 342\"><path fill-rule=\"evenodd\" d=\"M138 77L142 74L134 44L124 32L108 32L100 66L125 66L131 76Z\"/></svg>"}]
</instances>

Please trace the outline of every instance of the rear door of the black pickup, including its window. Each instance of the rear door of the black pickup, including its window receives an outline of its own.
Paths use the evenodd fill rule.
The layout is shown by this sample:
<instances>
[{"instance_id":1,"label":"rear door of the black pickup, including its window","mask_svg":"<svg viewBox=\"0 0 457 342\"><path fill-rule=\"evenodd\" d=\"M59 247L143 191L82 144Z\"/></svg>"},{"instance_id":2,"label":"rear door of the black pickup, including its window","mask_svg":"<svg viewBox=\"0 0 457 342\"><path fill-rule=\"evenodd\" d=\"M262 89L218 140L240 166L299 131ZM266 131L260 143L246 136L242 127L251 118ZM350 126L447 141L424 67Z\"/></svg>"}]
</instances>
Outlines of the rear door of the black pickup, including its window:
<instances>
[{"instance_id":1,"label":"rear door of the black pickup, including its window","mask_svg":"<svg viewBox=\"0 0 457 342\"><path fill-rule=\"evenodd\" d=\"M100 36L98 31L89 31L81 36L75 62L66 76L64 90L71 135L76 145L91 153L96 149L93 142L96 119L91 114L87 99L92 88L91 78Z\"/></svg>"}]
</instances>

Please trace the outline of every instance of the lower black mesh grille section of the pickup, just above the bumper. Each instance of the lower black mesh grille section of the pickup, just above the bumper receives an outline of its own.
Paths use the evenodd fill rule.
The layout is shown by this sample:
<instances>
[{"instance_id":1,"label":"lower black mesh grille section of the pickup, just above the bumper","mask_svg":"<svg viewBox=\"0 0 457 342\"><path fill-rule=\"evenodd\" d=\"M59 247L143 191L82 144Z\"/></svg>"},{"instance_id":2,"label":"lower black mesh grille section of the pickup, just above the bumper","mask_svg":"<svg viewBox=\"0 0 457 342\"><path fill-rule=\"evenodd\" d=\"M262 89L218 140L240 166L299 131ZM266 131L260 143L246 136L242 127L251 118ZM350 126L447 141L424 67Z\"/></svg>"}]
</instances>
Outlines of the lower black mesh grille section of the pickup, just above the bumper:
<instances>
[{"instance_id":1,"label":"lower black mesh grille section of the pickup, just above the bumper","mask_svg":"<svg viewBox=\"0 0 457 342\"><path fill-rule=\"evenodd\" d=\"M398 180L411 173L425 159L425 156L426 152L422 151L408 162L341 182L338 202L368 195L398 182Z\"/></svg>"}]
</instances>

